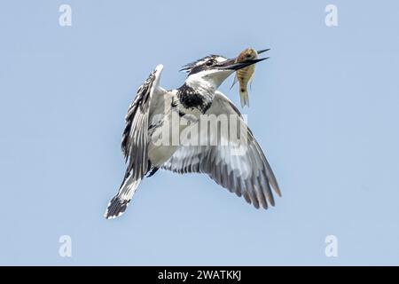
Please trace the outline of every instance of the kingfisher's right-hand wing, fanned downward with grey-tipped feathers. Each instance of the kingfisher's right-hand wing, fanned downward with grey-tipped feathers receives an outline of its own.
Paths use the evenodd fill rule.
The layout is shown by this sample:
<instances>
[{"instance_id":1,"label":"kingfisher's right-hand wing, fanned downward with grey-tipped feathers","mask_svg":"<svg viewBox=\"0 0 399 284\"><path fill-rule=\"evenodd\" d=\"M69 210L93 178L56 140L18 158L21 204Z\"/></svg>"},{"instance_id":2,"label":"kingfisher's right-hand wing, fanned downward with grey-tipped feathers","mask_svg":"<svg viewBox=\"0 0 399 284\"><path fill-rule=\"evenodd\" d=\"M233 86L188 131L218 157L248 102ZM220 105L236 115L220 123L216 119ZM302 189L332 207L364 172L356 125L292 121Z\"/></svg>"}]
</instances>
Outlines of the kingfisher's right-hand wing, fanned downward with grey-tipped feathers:
<instances>
[{"instance_id":1,"label":"kingfisher's right-hand wing, fanned downward with grey-tipped feathers","mask_svg":"<svg viewBox=\"0 0 399 284\"><path fill-rule=\"evenodd\" d=\"M200 146L179 146L162 168L177 173L206 173L231 193L244 196L245 200L252 203L255 208L262 206L267 209L268 203L274 206L271 189L281 196L276 177L237 107L221 92L216 91L215 99L207 114L216 116L232 114L228 116L236 117L240 133L245 134L244 138L231 138L229 131L233 129L231 128L233 122L230 119L228 119L229 131L219 130L218 138L210 128L205 132L204 128L200 127L201 138L204 135L209 136L209 143ZM216 127L221 128L221 126Z\"/></svg>"}]
</instances>

